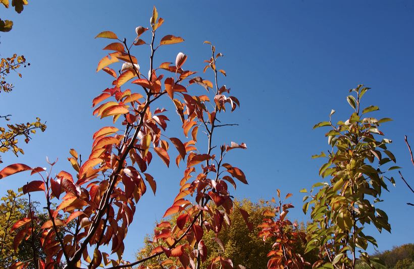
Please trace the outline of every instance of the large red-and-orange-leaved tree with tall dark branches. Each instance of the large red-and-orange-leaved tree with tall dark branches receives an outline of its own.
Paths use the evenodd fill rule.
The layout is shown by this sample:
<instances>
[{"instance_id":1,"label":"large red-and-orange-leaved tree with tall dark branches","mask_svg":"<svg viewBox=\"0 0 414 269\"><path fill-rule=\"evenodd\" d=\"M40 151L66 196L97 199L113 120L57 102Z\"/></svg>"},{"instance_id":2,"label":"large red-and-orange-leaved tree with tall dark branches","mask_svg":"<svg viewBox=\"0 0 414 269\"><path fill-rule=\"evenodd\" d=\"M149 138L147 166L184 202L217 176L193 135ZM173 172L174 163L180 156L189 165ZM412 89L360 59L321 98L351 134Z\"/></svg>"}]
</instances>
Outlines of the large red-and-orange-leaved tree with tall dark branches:
<instances>
[{"instance_id":1,"label":"large red-and-orange-leaved tree with tall dark branches","mask_svg":"<svg viewBox=\"0 0 414 269\"><path fill-rule=\"evenodd\" d=\"M231 125L218 120L220 113L234 111L239 101L229 95L230 89L219 86L219 75L226 73L218 70L216 64L223 55L217 53L215 46L208 41L204 43L211 48L211 57L206 60L203 71L212 71L214 84L194 76L195 71L186 70L187 56L182 52L177 54L175 63L166 61L156 65L153 57L158 49L184 41L181 37L166 35L157 45L156 31L163 22L154 8L150 28L137 27L132 42L128 43L125 38L120 40L110 31L96 36L116 42L104 48L113 52L98 63L97 71L108 73L112 83L93 99L93 114L100 118L112 117L114 124L121 122L122 130L116 126L97 130L93 134L90 155L84 161L71 149L68 160L73 173L61 171L52 175L47 172L55 162L49 162L50 170L47 171L24 164L10 165L0 171L0 178L22 171L30 171L31 175L41 178L23 186L24 193L42 191L45 194L49 220L41 227L41 242L47 256L44 260L33 256L31 262L38 267L46 268L64 261L68 268L95 268L99 265L121 268L143 262L144 259L134 262L123 259L123 241L128 226L134 220L135 205L145 194L147 186L156 193L156 179L151 176L149 168L152 158L159 157L169 166L170 155L177 154L175 163L184 166L183 178L177 180L177 196L164 216L176 213L180 216L174 226L159 224L162 230L154 234L154 248L146 259L165 253L168 257L178 257L172 267L185 268L191 264L198 268L201 263L208 262L210 268L233 268L228 257L206 260L208 249L202 238L204 231L213 230L218 234L233 210L226 182L234 187L236 181L247 184L244 173L224 161L230 150L245 149L246 146L234 142L226 145L226 141L218 147L212 144L215 129ZM142 45L150 48L147 77L146 73L140 72L140 66L130 52L132 47ZM109 67L118 62L122 63L120 74ZM123 89L129 81L133 90ZM203 87L206 94L189 94L193 87ZM169 121L167 111L154 108L161 97L170 99L175 105L188 140L183 142L163 134ZM199 136L199 128L207 133L206 137ZM208 144L206 151L197 148L203 138ZM214 201L216 208L212 209L209 201ZM245 218L247 220L247 213ZM34 221L36 216L30 215L16 222L13 229L20 229L16 241L30 237ZM71 222L75 222L72 228L68 226ZM219 238L217 242L220 244ZM109 246L110 253L101 251L104 245ZM13 266L25 267L27 263L18 262Z\"/></svg>"}]
</instances>

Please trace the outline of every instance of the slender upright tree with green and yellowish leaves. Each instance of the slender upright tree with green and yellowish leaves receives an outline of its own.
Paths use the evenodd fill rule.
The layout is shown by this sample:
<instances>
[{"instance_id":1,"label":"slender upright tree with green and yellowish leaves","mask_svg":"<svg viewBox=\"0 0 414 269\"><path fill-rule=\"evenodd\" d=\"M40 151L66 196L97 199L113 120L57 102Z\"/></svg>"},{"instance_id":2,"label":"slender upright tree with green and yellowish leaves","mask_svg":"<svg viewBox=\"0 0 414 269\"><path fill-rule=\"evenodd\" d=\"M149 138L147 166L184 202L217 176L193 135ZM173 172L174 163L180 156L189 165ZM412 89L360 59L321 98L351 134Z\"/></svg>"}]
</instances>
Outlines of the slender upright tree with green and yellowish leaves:
<instances>
[{"instance_id":1,"label":"slender upright tree with green and yellowish leaves","mask_svg":"<svg viewBox=\"0 0 414 269\"><path fill-rule=\"evenodd\" d=\"M377 119L368 113L379 110L378 106L360 108L361 98L369 90L358 85L347 97L352 114L345 121L323 121L314 128L328 126L326 133L332 147L328 154L313 156L325 157L319 175L329 177L328 182L316 183L304 197L304 213L310 211L312 224L307 226L308 240L306 251L318 248L320 259L314 267L355 268L360 259L371 268L372 261L366 249L371 243L377 246L373 236L366 235L364 228L373 224L379 232L383 229L391 232L387 214L376 205L381 202L382 190L388 190L385 179L395 184L392 177L385 176L388 170L398 169L385 164L395 162L394 155L387 149L391 140L382 138L380 124L390 118ZM302 192L307 192L305 189ZM359 253L359 254L358 254Z\"/></svg>"}]
</instances>

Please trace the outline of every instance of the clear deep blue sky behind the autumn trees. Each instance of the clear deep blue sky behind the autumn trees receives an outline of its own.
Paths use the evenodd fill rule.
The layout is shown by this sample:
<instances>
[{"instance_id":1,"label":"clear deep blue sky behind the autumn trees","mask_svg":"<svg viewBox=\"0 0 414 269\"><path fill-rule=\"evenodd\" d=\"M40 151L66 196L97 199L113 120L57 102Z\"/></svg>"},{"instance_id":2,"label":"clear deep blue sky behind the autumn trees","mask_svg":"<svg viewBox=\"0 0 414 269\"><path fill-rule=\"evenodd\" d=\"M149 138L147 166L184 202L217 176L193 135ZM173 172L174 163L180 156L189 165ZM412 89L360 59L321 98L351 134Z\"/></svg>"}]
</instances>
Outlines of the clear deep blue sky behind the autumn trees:
<instances>
[{"instance_id":1,"label":"clear deep blue sky behind the autumn trees","mask_svg":"<svg viewBox=\"0 0 414 269\"><path fill-rule=\"evenodd\" d=\"M47 121L46 132L24 145L26 154L18 159L4 154L5 164L46 166L47 155L59 158L59 169L71 171L66 161L70 148L88 156L92 133L109 123L92 116L91 100L111 83L108 75L95 72L98 60L106 55L100 49L110 40L93 37L111 30L128 40L135 38L135 27L148 26L155 4L165 19L159 37L174 34L186 40L166 46L156 62L174 61L182 51L188 55L186 66L201 71L202 60L210 56L204 40L225 54L221 68L228 77L220 79L220 84L231 87L241 102L240 110L231 114L232 121L240 125L223 128L219 135L228 143L248 146L228 160L249 181L247 186L238 186L236 197L270 199L276 188L292 192L296 209L291 218L306 221L301 212L303 195L298 191L320 180L322 163L310 156L329 149L325 130L312 127L326 120L331 109L337 111L334 119L346 119L350 107L345 97L357 84L372 88L364 104L380 107L376 117L394 119L381 129L394 141L390 149L414 184L414 167L403 141L407 134L414 146L414 2L142 2L30 1L19 15L2 8L2 19L12 19L14 28L1 34L1 56L22 53L31 66L22 70L23 79L10 77L16 88L11 94L2 93L0 114L13 114L13 121L35 116ZM140 48L134 53L146 69L148 51ZM152 232L153 223L171 205L182 176L174 165L167 170L159 161L150 171L158 192L154 197L148 191L137 207L126 240L125 258L130 260L144 235ZM412 194L397 173L391 175L397 186L382 195L381 208L389 215L392 234L378 236L380 250L414 238L413 208L405 205L413 202ZM27 176L0 180L0 195L22 186Z\"/></svg>"}]
</instances>

